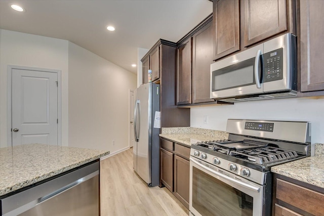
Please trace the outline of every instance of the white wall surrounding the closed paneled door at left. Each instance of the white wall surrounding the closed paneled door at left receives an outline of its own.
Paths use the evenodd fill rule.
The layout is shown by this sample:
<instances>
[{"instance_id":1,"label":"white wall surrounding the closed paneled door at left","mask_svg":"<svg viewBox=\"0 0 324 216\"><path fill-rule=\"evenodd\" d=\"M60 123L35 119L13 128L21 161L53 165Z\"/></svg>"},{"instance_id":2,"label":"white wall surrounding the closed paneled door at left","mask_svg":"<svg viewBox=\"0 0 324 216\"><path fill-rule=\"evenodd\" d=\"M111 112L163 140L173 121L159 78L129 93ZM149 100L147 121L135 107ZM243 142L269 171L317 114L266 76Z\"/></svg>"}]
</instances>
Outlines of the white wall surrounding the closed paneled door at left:
<instances>
[{"instance_id":1,"label":"white wall surrounding the closed paneled door at left","mask_svg":"<svg viewBox=\"0 0 324 216\"><path fill-rule=\"evenodd\" d=\"M0 29L0 147L7 147L7 65L61 70L62 145L68 143L68 42Z\"/></svg>"}]
</instances>

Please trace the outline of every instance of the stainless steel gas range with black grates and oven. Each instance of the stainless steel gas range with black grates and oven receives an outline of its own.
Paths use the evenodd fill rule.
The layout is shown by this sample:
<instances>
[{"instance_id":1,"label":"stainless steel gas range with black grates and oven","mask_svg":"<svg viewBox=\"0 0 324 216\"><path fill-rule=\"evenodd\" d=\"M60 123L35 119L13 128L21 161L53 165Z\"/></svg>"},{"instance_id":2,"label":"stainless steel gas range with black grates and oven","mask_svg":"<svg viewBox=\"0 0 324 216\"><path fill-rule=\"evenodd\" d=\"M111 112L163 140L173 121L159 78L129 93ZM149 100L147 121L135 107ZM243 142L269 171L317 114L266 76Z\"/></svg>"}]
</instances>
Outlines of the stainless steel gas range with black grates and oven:
<instances>
[{"instance_id":1,"label":"stainless steel gas range with black grates and oven","mask_svg":"<svg viewBox=\"0 0 324 216\"><path fill-rule=\"evenodd\" d=\"M227 121L228 140L191 145L190 215L271 215L271 166L310 155L310 123Z\"/></svg>"}]
</instances>

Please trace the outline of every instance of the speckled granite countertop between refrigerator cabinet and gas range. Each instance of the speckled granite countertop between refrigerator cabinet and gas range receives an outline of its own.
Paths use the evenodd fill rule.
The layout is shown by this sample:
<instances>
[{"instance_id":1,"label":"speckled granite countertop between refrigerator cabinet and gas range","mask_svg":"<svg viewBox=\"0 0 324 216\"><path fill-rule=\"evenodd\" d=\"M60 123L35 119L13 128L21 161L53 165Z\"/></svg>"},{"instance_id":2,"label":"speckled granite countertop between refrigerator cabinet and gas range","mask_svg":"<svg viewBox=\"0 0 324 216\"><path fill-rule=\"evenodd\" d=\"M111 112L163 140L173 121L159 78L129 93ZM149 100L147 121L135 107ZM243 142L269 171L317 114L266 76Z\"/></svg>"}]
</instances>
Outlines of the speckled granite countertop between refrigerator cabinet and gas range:
<instances>
[{"instance_id":1,"label":"speckled granite countertop between refrigerator cabinet and gas range","mask_svg":"<svg viewBox=\"0 0 324 216\"><path fill-rule=\"evenodd\" d=\"M227 139L228 133L202 128L175 127L162 128L162 133L159 136L190 147L192 143L197 141Z\"/></svg>"}]
</instances>

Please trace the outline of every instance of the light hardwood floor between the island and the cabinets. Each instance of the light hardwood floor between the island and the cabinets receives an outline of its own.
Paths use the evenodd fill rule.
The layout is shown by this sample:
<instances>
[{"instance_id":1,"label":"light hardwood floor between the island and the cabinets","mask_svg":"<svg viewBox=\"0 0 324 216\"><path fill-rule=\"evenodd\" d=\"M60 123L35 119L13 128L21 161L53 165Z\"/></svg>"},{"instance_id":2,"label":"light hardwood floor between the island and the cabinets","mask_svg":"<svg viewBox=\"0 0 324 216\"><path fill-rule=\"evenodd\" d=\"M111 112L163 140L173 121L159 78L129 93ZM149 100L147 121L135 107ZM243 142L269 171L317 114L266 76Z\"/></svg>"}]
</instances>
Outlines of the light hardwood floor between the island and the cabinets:
<instances>
[{"instance_id":1,"label":"light hardwood floor between the island and the cabinets","mask_svg":"<svg viewBox=\"0 0 324 216\"><path fill-rule=\"evenodd\" d=\"M166 188L147 187L133 170L133 148L100 161L100 212L106 215L188 215Z\"/></svg>"}]
</instances>

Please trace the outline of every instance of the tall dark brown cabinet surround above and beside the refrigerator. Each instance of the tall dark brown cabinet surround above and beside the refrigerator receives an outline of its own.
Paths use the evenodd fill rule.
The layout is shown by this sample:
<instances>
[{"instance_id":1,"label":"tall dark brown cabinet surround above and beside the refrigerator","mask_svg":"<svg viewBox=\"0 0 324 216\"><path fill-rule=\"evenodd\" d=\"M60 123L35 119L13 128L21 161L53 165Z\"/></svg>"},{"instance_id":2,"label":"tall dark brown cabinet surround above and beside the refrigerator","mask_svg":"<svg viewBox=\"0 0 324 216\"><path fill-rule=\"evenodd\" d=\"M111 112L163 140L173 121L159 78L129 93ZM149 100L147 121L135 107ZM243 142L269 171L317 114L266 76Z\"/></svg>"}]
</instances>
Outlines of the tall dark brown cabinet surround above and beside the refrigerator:
<instances>
[{"instance_id":1,"label":"tall dark brown cabinet surround above and beside the refrigerator","mask_svg":"<svg viewBox=\"0 0 324 216\"><path fill-rule=\"evenodd\" d=\"M190 109L179 109L176 104L177 44L163 39L141 59L143 83L148 82L147 70L152 70L152 82L160 85L161 127L189 127Z\"/></svg>"}]
</instances>

